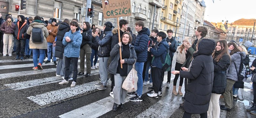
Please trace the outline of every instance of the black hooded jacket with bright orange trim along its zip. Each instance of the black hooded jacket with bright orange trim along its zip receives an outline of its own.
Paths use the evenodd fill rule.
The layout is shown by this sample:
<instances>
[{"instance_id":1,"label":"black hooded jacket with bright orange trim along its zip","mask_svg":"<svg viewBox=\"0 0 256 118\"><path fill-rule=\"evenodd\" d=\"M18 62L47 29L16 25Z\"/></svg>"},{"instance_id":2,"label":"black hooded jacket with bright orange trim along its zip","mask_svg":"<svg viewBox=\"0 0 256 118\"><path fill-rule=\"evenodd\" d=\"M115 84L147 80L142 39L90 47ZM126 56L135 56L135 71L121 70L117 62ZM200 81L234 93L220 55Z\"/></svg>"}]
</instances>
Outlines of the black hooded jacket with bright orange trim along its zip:
<instances>
[{"instance_id":1,"label":"black hooded jacket with bright orange trim along its zip","mask_svg":"<svg viewBox=\"0 0 256 118\"><path fill-rule=\"evenodd\" d=\"M28 24L25 22L25 17L20 15L21 22L18 21L15 28L14 28L14 34L15 38L18 40L26 40L27 38L27 30L28 30Z\"/></svg>"}]
</instances>

